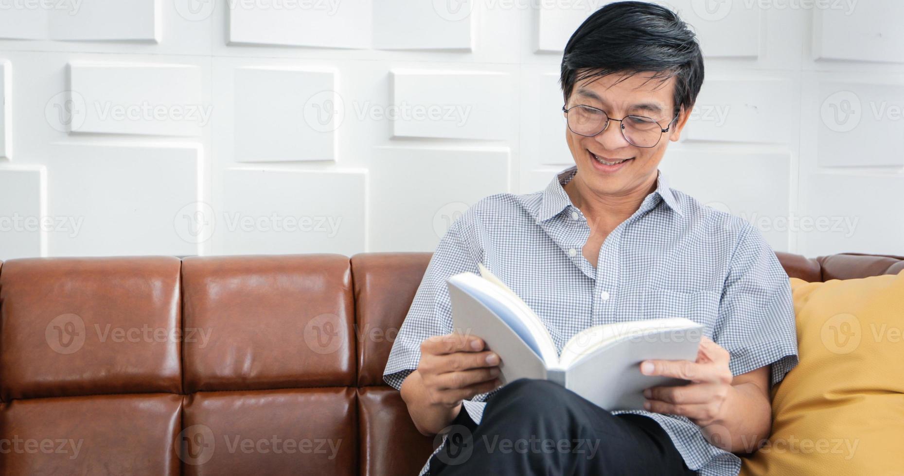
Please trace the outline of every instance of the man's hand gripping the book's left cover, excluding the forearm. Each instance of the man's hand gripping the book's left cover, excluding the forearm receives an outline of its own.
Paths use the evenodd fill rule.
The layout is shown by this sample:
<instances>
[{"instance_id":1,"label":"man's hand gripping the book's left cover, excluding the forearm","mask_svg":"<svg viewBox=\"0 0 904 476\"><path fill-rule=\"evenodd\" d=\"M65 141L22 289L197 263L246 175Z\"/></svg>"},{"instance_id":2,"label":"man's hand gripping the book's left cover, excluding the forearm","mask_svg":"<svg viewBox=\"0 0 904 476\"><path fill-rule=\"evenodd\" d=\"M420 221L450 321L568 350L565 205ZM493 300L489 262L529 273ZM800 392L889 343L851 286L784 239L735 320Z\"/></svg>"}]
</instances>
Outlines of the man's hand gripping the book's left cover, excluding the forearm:
<instances>
[{"instance_id":1,"label":"man's hand gripping the book's left cover, excluding the forearm","mask_svg":"<svg viewBox=\"0 0 904 476\"><path fill-rule=\"evenodd\" d=\"M499 387L499 356L484 349L482 339L457 333L421 342L418 373L429 403L459 406Z\"/></svg>"}]
</instances>

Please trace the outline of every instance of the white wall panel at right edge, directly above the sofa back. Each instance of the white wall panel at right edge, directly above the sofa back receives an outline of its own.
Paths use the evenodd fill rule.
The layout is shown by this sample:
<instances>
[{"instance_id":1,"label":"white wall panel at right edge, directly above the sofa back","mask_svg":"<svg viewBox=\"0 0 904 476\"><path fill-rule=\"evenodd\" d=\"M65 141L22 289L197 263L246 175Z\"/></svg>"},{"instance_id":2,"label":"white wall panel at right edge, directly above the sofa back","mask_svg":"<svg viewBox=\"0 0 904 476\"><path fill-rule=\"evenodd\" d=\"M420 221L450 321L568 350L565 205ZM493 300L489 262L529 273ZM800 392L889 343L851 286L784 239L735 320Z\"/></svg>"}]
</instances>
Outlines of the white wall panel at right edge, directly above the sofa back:
<instances>
[{"instance_id":1,"label":"white wall panel at right edge, directly above the sofa back","mask_svg":"<svg viewBox=\"0 0 904 476\"><path fill-rule=\"evenodd\" d=\"M807 189L798 252L904 254L904 175L815 173Z\"/></svg>"}]
</instances>

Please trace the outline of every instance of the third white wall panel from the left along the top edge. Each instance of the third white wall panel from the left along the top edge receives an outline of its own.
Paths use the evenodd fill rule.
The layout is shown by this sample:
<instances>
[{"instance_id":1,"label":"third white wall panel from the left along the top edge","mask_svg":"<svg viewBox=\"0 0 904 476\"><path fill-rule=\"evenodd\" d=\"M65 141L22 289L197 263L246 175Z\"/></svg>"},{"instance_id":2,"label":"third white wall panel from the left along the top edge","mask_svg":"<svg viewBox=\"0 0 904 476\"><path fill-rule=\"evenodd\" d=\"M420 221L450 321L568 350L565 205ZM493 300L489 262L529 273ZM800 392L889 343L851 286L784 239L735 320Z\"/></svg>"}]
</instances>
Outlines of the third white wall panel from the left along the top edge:
<instances>
[{"instance_id":1,"label":"third white wall panel from the left along the top edge","mask_svg":"<svg viewBox=\"0 0 904 476\"><path fill-rule=\"evenodd\" d=\"M372 0L230 2L229 42L367 48Z\"/></svg>"}]
</instances>

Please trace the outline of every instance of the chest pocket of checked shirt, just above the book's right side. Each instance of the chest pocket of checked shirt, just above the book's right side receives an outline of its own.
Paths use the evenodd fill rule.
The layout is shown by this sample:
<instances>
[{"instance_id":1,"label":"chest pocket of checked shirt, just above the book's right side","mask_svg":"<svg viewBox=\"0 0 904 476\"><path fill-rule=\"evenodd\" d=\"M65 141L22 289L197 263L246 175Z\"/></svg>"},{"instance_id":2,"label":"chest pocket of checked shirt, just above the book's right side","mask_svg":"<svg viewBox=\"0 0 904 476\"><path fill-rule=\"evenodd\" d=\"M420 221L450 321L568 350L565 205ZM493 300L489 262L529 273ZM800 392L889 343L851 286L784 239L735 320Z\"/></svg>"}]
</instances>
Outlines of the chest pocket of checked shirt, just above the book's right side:
<instances>
[{"instance_id":1,"label":"chest pocket of checked shirt, just above the book's right side","mask_svg":"<svg viewBox=\"0 0 904 476\"><path fill-rule=\"evenodd\" d=\"M646 289L640 296L644 319L683 317L703 324L703 333L711 335L719 319L720 292Z\"/></svg>"}]
</instances>

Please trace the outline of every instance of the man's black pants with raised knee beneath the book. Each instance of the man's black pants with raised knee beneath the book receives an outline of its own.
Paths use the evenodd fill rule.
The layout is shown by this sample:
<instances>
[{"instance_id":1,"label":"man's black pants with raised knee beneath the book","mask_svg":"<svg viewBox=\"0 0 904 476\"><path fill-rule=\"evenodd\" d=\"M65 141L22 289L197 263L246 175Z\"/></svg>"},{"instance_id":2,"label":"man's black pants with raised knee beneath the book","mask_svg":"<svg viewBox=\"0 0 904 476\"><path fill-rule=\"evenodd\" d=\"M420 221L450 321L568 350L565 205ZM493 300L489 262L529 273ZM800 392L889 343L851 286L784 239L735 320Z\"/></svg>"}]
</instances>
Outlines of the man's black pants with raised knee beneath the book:
<instances>
[{"instance_id":1,"label":"man's black pants with raised knee beneath the book","mask_svg":"<svg viewBox=\"0 0 904 476\"><path fill-rule=\"evenodd\" d=\"M544 380L497 392L476 425L462 408L430 474L695 474L652 418L612 415Z\"/></svg>"}]
</instances>

